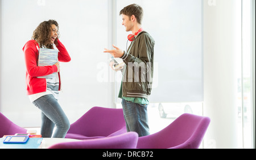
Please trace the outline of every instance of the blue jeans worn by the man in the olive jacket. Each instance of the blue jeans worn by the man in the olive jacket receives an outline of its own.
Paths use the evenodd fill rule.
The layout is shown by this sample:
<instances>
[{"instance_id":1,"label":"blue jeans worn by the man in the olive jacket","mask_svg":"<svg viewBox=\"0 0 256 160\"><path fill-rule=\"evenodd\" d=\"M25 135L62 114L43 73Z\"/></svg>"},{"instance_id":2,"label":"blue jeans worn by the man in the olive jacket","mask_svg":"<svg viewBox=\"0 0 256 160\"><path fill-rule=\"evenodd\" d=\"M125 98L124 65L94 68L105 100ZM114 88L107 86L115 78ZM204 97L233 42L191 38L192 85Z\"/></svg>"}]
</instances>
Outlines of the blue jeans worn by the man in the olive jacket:
<instances>
[{"instance_id":1,"label":"blue jeans worn by the man in the olive jacket","mask_svg":"<svg viewBox=\"0 0 256 160\"><path fill-rule=\"evenodd\" d=\"M139 105L122 100L123 116L127 132L137 132L139 137L150 135L147 117L147 105Z\"/></svg>"}]
</instances>

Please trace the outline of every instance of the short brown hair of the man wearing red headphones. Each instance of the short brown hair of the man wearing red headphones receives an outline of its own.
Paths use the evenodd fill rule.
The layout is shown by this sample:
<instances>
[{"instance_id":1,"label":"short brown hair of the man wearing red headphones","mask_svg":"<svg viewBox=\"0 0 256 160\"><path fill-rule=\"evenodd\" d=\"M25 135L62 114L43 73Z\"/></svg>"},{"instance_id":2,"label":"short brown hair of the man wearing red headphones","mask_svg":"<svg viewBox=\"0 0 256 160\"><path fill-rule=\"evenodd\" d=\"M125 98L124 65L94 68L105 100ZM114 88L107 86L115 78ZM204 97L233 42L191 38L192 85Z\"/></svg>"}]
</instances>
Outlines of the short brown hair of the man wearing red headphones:
<instances>
[{"instance_id":1,"label":"short brown hair of the man wearing red headphones","mask_svg":"<svg viewBox=\"0 0 256 160\"><path fill-rule=\"evenodd\" d=\"M132 16L134 15L135 18L137 19L137 22L139 24L142 24L142 19L143 19L143 9L141 6L139 5L136 5L136 4L132 4L132 5L129 5L129 6L126 6L125 8L123 8L119 15L127 15L127 16Z\"/></svg>"}]
</instances>

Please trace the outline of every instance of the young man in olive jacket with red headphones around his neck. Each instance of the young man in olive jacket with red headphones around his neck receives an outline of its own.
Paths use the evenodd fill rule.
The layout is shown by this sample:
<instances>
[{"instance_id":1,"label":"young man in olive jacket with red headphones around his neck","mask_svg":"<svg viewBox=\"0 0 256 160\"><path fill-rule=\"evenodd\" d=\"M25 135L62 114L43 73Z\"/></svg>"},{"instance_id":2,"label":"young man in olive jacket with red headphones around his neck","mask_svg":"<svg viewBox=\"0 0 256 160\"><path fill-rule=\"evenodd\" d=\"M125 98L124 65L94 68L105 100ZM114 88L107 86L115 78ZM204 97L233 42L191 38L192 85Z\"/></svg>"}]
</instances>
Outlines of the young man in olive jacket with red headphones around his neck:
<instances>
[{"instance_id":1,"label":"young man in olive jacket with red headphones around his neck","mask_svg":"<svg viewBox=\"0 0 256 160\"><path fill-rule=\"evenodd\" d=\"M155 41L142 29L141 6L136 4L126 6L120 11L120 15L126 32L133 33L128 36L132 41L131 45L127 52L113 45L114 50L105 49L104 53L110 53L114 58L122 58L125 62L118 97L122 98L127 132L133 131L139 136L146 136L150 134L147 105L152 87Z\"/></svg>"}]
</instances>

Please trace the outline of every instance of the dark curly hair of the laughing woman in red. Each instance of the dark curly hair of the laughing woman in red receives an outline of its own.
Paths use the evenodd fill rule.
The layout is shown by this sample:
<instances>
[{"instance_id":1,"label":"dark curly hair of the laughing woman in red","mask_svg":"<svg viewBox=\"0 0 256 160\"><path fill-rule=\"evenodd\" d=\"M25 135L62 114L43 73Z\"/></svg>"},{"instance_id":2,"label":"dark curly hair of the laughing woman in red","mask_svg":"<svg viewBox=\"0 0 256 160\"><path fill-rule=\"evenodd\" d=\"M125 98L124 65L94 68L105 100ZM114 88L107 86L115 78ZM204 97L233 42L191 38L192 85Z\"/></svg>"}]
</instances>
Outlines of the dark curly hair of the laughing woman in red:
<instances>
[{"instance_id":1,"label":"dark curly hair of the laughing woman in red","mask_svg":"<svg viewBox=\"0 0 256 160\"><path fill-rule=\"evenodd\" d=\"M52 27L51 25L55 24L57 29L59 30L59 24L56 20L48 20L43 21L38 25L38 27L33 32L32 39L36 40L40 47L46 47L48 49L53 49L53 44L51 44L51 33L52 33ZM57 45L57 41L59 38L59 34L54 41L54 44Z\"/></svg>"}]
</instances>

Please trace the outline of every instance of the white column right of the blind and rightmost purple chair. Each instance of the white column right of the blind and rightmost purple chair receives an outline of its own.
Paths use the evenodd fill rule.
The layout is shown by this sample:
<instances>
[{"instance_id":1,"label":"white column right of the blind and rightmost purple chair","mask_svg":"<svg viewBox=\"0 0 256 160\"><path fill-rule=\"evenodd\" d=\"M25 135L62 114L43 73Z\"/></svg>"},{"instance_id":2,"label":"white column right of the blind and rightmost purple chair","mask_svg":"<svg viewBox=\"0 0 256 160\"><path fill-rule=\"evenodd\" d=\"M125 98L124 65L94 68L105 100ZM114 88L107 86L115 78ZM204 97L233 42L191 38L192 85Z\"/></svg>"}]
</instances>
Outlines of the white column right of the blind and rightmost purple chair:
<instances>
[{"instance_id":1,"label":"white column right of the blind and rightmost purple chair","mask_svg":"<svg viewBox=\"0 0 256 160\"><path fill-rule=\"evenodd\" d=\"M241 0L205 0L204 115L211 119L204 139L205 148L238 148L239 59Z\"/></svg>"}]
</instances>

